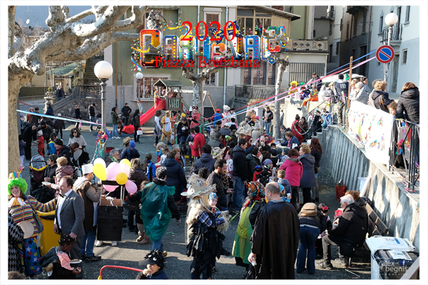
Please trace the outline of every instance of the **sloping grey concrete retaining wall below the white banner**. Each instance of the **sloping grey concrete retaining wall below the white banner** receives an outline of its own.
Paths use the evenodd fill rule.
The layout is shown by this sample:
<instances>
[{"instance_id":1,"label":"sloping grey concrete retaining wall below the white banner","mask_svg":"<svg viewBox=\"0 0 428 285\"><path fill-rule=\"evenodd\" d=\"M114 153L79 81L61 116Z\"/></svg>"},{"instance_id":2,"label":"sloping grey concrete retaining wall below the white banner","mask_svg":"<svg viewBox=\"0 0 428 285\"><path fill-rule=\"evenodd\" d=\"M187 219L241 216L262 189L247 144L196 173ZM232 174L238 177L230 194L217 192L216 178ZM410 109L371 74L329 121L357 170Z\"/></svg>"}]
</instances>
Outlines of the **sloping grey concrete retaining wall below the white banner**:
<instances>
[{"instance_id":1,"label":"sloping grey concrete retaining wall below the white banner","mask_svg":"<svg viewBox=\"0 0 428 285\"><path fill-rule=\"evenodd\" d=\"M388 172L385 165L374 164L365 150L340 128L329 126L317 135L322 145L321 171L348 190L359 190L358 177L372 177L365 196L374 203L374 211L387 225L388 236L409 239L419 251L419 200L404 191L401 179Z\"/></svg>"}]
</instances>

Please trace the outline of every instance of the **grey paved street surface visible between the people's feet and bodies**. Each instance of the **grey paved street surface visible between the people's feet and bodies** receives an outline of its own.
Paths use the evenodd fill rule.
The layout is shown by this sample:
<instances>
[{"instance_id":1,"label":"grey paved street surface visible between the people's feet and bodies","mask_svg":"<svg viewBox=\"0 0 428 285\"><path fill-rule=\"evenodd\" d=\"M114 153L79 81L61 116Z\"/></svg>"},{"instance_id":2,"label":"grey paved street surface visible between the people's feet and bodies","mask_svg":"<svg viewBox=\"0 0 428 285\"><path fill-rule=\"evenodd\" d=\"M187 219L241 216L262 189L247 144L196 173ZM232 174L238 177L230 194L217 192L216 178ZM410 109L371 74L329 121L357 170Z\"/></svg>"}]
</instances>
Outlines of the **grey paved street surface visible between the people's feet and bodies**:
<instances>
[{"instance_id":1,"label":"grey paved street surface visible between the people's feet and bodies","mask_svg":"<svg viewBox=\"0 0 428 285\"><path fill-rule=\"evenodd\" d=\"M67 125L67 130L63 133L63 140L67 143L68 136L70 134L71 128L73 125ZM83 125L82 135L85 138L88 146L86 147L89 154L93 155L95 150L96 142L96 133L88 132L88 126ZM141 154L141 158L145 157L146 153L151 152L153 156L155 155L155 147L153 147L154 136L153 128L148 126L143 128L143 137L141 138L141 145L137 145L137 149ZM122 147L122 140L110 140L108 141L108 146L113 146L116 148ZM36 147L32 149L33 155L36 153ZM29 182L28 177L28 168L29 162L26 161L26 169L24 170L24 177L27 182ZM330 218L334 215L334 209L340 207L339 202L335 199L335 188L334 182L332 182L331 177L321 174L318 177L320 182L320 201L327 204L330 211ZM181 209L182 214L182 224L177 226L175 219L171 219L168 229L166 230L165 236L163 238L163 244L165 250L168 251L168 258L166 259L167 264L165 271L168 274L170 279L190 279L190 263L192 261L191 257L187 257L186 254L186 244L185 244L185 209ZM126 218L126 214L124 215ZM225 233L226 239L224 243L225 249L229 251L233 248L233 239L235 237L236 228L238 227L238 219L235 219L228 232ZM117 247L111 247L110 243L103 244L101 247L96 247L94 252L96 255L101 255L101 261L94 262L91 264L83 264L84 279L97 279L100 269L104 265L116 265L116 266L128 266L133 268L138 268L138 261L144 259L144 256L151 250L151 245L141 245L136 242L137 234L129 232L128 228L123 228L122 231L122 241L118 242ZM319 270L317 269L315 275L309 275L307 273L296 274L296 279L349 279L356 277L353 274L350 274L344 271L342 266L337 266L334 259L337 258L337 253L335 250L332 250L333 255L333 265L335 269L332 271ZM317 257L320 259L320 257ZM364 262L362 262L364 261ZM355 257L353 260L357 264L357 269L352 269L356 274L361 276L362 279L370 279L370 256L367 256L365 253L364 258ZM214 279L243 279L245 274L245 269L235 265L235 259L233 257L221 257L218 260L217 265L218 272L213 275ZM137 273L135 271L128 271L123 269L106 269L103 272L103 279L135 279ZM39 278L44 279L45 276L40 276Z\"/></svg>"}]
</instances>

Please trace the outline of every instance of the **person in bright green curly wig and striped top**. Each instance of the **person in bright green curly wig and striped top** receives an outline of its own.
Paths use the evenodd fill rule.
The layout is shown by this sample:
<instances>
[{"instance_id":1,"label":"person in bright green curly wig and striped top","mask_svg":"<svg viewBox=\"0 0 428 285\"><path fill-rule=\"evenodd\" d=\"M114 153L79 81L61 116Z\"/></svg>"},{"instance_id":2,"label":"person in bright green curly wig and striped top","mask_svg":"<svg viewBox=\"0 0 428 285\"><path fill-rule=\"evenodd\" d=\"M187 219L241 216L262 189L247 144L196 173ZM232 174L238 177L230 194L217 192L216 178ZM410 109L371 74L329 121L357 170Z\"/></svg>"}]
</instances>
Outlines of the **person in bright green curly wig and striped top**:
<instances>
[{"instance_id":1,"label":"person in bright green curly wig and striped top","mask_svg":"<svg viewBox=\"0 0 428 285\"><path fill-rule=\"evenodd\" d=\"M31 222L33 226L33 234L30 237L24 238L24 242L18 244L19 255L21 257L21 266L26 276L35 276L41 273L40 252L37 245L37 235L39 230L34 220L34 210L39 212L51 212L56 208L56 200L42 204L32 196L26 196L28 185L24 178L9 179L8 193L9 214L14 219L16 224L20 222ZM21 271L21 270L20 270Z\"/></svg>"}]
</instances>

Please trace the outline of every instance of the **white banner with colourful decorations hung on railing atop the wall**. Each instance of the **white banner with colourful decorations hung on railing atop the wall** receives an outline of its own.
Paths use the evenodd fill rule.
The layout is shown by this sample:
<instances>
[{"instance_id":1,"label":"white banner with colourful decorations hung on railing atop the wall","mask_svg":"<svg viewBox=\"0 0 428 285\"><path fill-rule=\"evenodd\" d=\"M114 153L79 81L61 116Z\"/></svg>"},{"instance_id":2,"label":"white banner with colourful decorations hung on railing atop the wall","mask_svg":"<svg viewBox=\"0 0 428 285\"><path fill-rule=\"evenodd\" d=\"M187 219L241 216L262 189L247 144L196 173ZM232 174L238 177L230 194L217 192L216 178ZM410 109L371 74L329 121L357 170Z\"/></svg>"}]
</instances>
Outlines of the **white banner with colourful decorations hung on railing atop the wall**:
<instances>
[{"instance_id":1,"label":"white banner with colourful decorations hung on railing atop the wall","mask_svg":"<svg viewBox=\"0 0 428 285\"><path fill-rule=\"evenodd\" d=\"M372 162L389 163L394 116L359 102L352 102L348 133L363 145Z\"/></svg>"}]
</instances>

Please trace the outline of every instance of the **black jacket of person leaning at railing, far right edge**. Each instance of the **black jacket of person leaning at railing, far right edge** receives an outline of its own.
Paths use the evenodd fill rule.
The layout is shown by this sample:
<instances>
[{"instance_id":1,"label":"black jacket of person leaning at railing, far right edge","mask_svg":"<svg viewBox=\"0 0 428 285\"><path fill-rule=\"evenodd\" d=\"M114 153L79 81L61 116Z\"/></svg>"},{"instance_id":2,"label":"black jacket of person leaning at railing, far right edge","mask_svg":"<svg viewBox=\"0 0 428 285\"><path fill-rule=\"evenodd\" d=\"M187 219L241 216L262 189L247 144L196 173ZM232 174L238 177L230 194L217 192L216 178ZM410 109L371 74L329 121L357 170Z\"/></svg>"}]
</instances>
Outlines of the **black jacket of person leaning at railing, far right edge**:
<instances>
[{"instance_id":1,"label":"black jacket of person leaning at railing, far right edge","mask_svg":"<svg viewBox=\"0 0 428 285\"><path fill-rule=\"evenodd\" d=\"M419 124L419 89L417 87L402 90L395 117Z\"/></svg>"}]
</instances>

